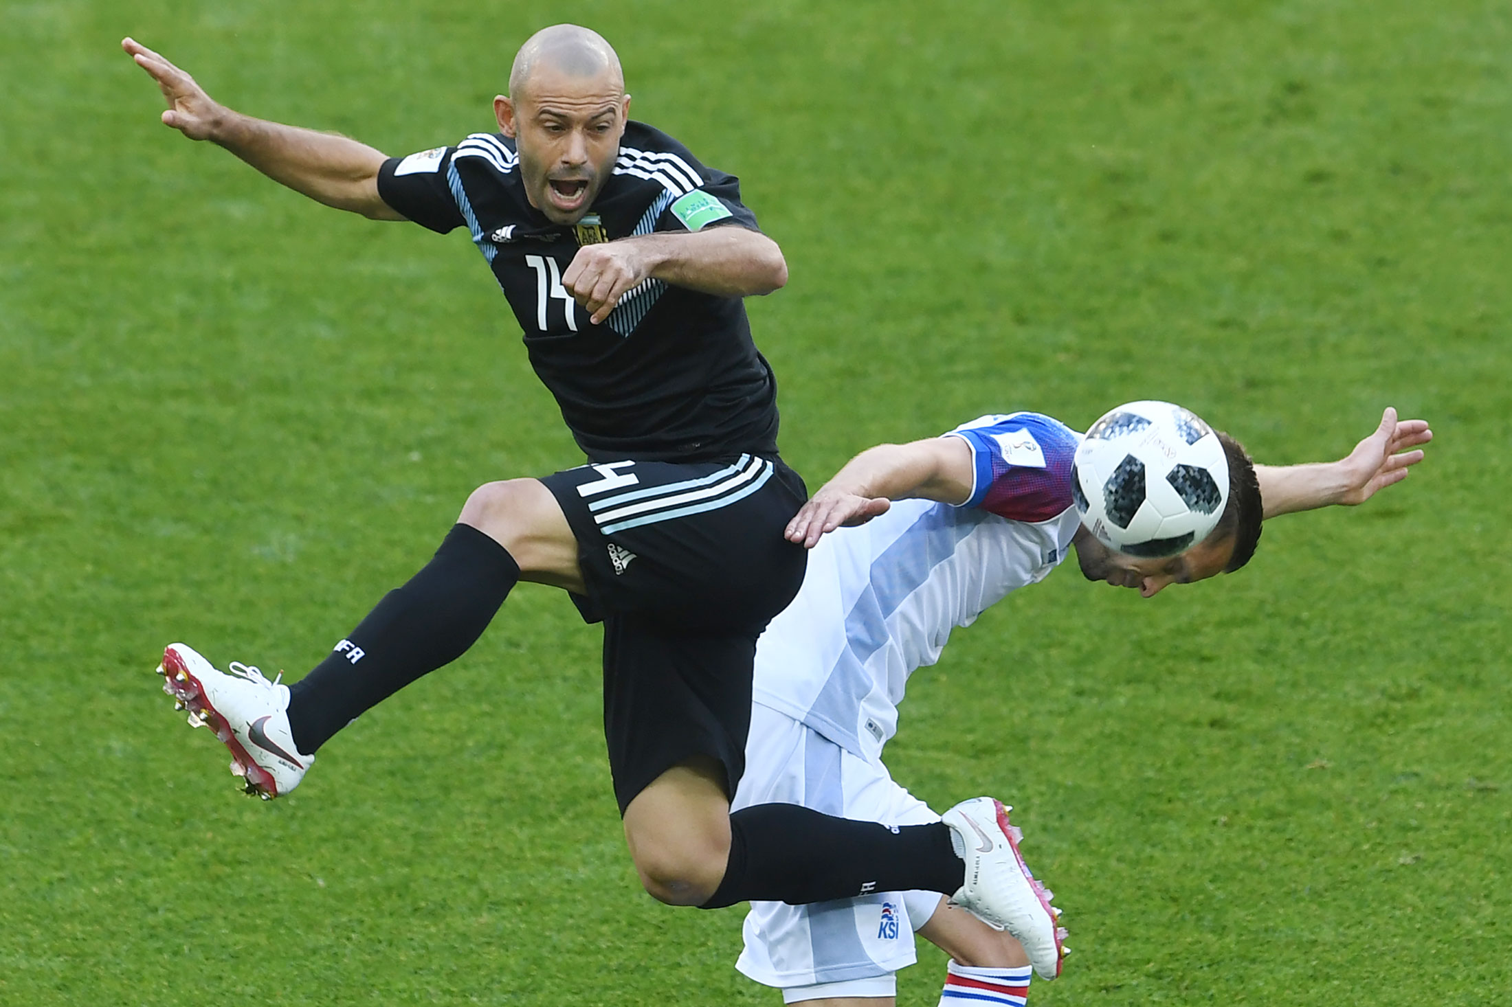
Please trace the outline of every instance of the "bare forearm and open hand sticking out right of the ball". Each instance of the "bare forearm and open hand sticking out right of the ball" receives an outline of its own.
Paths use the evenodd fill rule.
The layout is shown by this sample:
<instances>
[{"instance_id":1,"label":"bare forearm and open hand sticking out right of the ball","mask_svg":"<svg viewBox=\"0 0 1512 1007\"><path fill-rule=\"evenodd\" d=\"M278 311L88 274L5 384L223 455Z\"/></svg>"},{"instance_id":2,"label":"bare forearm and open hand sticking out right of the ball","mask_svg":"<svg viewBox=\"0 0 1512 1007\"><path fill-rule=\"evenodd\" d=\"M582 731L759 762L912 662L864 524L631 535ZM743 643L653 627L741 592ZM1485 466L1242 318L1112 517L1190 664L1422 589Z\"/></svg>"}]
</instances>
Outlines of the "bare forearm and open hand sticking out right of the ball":
<instances>
[{"instance_id":1,"label":"bare forearm and open hand sticking out right of the ball","mask_svg":"<svg viewBox=\"0 0 1512 1007\"><path fill-rule=\"evenodd\" d=\"M1406 479L1408 467L1423 461L1418 446L1430 440L1433 431L1426 420L1399 420L1397 411L1388 407L1376 431L1338 461L1255 466L1266 517L1331 504L1364 504L1379 490Z\"/></svg>"}]
</instances>

